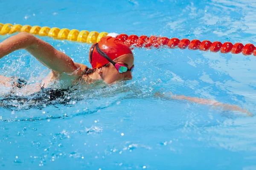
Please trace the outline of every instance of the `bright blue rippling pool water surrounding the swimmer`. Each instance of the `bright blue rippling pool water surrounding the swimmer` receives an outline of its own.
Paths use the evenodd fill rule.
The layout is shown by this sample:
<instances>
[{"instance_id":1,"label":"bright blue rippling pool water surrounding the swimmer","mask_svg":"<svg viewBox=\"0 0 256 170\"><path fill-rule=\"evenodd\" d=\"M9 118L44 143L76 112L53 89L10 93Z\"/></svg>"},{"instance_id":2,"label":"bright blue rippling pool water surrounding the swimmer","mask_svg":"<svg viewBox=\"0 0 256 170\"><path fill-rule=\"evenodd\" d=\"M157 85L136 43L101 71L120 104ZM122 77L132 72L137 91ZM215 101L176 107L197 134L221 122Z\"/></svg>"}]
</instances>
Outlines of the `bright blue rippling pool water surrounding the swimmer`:
<instances>
[{"instance_id":1,"label":"bright blue rippling pool water surrounding the swimmer","mask_svg":"<svg viewBox=\"0 0 256 170\"><path fill-rule=\"evenodd\" d=\"M9 0L0 9L0 23L256 44L254 0ZM40 38L89 65L89 44ZM256 169L255 116L166 95L255 115L256 57L167 48L134 57L133 80L76 90L68 104L0 96L0 169ZM23 50L0 60L0 74L29 84L48 73Z\"/></svg>"}]
</instances>

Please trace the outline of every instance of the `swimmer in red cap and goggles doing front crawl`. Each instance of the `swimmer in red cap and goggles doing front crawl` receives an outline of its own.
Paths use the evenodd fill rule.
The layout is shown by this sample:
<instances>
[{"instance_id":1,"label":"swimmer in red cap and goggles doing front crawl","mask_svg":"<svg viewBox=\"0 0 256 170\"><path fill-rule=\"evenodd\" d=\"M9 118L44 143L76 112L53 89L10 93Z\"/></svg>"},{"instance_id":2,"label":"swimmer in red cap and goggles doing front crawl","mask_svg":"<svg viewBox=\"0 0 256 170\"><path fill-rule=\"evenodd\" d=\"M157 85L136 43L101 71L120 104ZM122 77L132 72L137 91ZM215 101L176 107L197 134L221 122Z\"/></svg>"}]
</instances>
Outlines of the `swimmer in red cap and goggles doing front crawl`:
<instances>
[{"instance_id":1,"label":"swimmer in red cap and goggles doing front crawl","mask_svg":"<svg viewBox=\"0 0 256 170\"><path fill-rule=\"evenodd\" d=\"M114 82L127 81L132 79L134 69L134 56L131 49L122 41L113 37L103 37L98 43L94 43L89 51L89 61L92 68L88 68L81 63L73 60L61 51L58 51L52 45L33 36L32 34L21 32L0 42L0 59L7 54L19 49L25 49L39 62L51 69L51 72L45 77L41 84L34 88L35 91L47 88L52 81L70 79L72 84L77 82L91 83L103 81L107 84ZM14 81L14 79L16 79ZM15 86L23 88L26 82L22 79L5 77L0 75L0 85L6 87ZM156 94L158 97L166 97ZM210 99L200 99L189 96L169 95L171 99L187 100L203 105L222 108L223 110L240 111L252 116L252 113L236 105L229 105Z\"/></svg>"}]
</instances>

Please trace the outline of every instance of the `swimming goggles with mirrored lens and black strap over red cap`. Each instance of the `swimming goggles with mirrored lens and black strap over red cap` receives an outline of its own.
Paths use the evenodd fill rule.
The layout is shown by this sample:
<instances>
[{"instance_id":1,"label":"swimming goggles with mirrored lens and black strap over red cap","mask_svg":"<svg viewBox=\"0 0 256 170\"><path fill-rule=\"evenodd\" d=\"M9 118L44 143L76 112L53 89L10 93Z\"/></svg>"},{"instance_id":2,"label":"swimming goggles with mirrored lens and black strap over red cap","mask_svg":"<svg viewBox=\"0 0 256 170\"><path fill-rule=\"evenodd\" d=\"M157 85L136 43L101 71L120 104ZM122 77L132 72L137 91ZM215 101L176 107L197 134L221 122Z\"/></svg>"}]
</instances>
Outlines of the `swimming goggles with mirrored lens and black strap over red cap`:
<instances>
[{"instance_id":1,"label":"swimming goggles with mirrored lens and black strap over red cap","mask_svg":"<svg viewBox=\"0 0 256 170\"><path fill-rule=\"evenodd\" d=\"M102 56L104 57L105 59L107 59L109 62L111 62L115 67L116 67L116 70L119 72L119 73L125 73L126 71L132 71L134 70L134 66L132 66L130 69L126 66L126 65L123 65L123 64L119 64L119 63L116 63L114 62L111 58L108 57L108 55L106 53L104 53L100 48L99 48L99 45L98 43L95 43L93 45L93 47L91 48L91 51L90 51L90 59L92 60L93 58L93 48L96 46L96 50L97 52Z\"/></svg>"}]
</instances>

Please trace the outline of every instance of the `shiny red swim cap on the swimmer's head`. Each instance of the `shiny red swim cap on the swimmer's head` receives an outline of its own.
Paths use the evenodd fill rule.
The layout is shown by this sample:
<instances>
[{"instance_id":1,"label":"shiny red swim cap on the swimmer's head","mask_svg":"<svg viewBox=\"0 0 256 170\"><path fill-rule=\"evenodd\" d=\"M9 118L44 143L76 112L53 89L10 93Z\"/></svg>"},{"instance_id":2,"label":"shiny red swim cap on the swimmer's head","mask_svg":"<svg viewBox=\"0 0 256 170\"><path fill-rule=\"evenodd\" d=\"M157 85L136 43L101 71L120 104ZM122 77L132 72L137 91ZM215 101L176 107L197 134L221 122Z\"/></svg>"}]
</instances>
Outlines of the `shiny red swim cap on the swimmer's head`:
<instances>
[{"instance_id":1,"label":"shiny red swim cap on the swimmer's head","mask_svg":"<svg viewBox=\"0 0 256 170\"><path fill-rule=\"evenodd\" d=\"M132 54L131 49L125 45L122 41L119 39L113 38L113 37L102 37L100 41L98 42L99 48L108 55L109 58L116 59L119 56L122 56L124 54ZM92 47L95 46L94 44L90 48L89 52L89 61L92 65L92 69L99 68L105 64L108 64L108 60L102 57L96 50L96 48L93 49L92 53L92 59L90 59L90 53Z\"/></svg>"}]
</instances>

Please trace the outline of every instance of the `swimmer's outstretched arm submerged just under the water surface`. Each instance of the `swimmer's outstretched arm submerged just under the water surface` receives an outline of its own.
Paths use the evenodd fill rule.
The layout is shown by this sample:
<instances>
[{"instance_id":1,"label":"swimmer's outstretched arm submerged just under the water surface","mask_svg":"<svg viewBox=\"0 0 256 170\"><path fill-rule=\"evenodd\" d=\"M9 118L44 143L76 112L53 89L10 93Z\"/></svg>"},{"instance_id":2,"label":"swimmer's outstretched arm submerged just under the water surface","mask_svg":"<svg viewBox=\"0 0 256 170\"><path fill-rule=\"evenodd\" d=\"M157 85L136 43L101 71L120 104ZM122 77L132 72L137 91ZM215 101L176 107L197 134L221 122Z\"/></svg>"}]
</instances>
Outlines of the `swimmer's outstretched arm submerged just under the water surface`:
<instances>
[{"instance_id":1,"label":"swimmer's outstretched arm submerged just under the water surface","mask_svg":"<svg viewBox=\"0 0 256 170\"><path fill-rule=\"evenodd\" d=\"M168 94L160 94L157 92L155 96L160 96L160 97L168 97L171 99L180 99L180 100L187 100L189 102L194 102L194 103L199 103L202 105L210 105L212 108L218 109L222 108L224 111L239 111L241 113L246 113L247 116L253 116L253 113L250 113L246 109L240 108L238 105L230 105L230 104L223 104L221 102L218 102L216 100L212 99L202 99L202 98L197 98L197 97L189 97L189 96L183 96L183 95L173 95L171 92Z\"/></svg>"}]
</instances>

